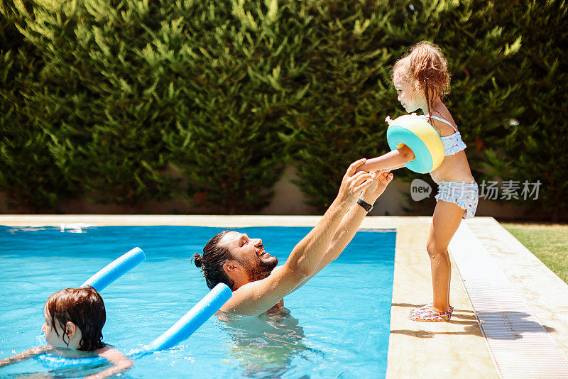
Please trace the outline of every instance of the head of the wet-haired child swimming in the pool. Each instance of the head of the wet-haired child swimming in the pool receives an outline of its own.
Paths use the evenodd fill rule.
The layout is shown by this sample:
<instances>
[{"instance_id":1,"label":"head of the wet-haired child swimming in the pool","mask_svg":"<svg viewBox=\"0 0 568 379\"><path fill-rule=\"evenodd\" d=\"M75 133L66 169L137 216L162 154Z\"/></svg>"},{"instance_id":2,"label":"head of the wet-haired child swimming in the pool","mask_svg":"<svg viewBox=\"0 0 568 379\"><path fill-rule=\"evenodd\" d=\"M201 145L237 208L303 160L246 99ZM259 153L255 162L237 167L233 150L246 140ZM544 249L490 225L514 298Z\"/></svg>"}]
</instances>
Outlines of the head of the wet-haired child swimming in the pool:
<instances>
[{"instance_id":1,"label":"head of the wet-haired child swimming in the pool","mask_svg":"<svg viewBox=\"0 0 568 379\"><path fill-rule=\"evenodd\" d=\"M105 346L102 327L107 312L101 295L93 287L67 288L55 292L43 307L41 330L48 344L94 351Z\"/></svg>"}]
</instances>

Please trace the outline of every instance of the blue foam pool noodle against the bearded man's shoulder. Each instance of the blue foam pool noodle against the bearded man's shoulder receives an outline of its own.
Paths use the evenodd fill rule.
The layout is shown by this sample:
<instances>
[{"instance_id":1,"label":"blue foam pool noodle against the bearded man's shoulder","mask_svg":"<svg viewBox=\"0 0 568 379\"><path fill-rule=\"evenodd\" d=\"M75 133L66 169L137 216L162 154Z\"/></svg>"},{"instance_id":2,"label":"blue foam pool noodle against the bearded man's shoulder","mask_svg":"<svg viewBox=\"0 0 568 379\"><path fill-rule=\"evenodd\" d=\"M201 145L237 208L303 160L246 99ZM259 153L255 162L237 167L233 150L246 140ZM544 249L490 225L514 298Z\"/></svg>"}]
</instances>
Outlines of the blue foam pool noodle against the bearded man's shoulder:
<instances>
[{"instance_id":1,"label":"blue foam pool noodle against the bearded man's shoulder","mask_svg":"<svg viewBox=\"0 0 568 379\"><path fill-rule=\"evenodd\" d=\"M229 286L219 283L195 304L190 312L187 312L170 329L146 346L146 351L165 350L189 338L231 298L231 295L233 292Z\"/></svg>"}]
</instances>

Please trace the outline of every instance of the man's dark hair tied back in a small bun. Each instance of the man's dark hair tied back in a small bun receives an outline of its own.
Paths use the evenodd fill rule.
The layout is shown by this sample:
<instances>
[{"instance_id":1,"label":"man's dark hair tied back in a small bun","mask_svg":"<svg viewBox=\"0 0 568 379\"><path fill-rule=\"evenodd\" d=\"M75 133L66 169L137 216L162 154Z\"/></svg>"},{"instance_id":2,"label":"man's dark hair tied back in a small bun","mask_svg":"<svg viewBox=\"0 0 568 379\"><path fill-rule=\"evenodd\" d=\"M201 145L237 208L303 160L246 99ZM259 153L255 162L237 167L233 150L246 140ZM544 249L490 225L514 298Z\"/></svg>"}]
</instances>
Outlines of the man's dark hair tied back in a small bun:
<instances>
[{"instance_id":1,"label":"man's dark hair tied back in a small bun","mask_svg":"<svg viewBox=\"0 0 568 379\"><path fill-rule=\"evenodd\" d=\"M223 269L223 265L231 259L231 251L225 246L219 246L219 241L225 234L229 233L228 230L222 231L215 235L207 242L203 248L203 256L194 254L192 260L197 268L201 268L207 287L213 288L219 283L225 283L230 288L233 287L233 280L229 279Z\"/></svg>"}]
</instances>

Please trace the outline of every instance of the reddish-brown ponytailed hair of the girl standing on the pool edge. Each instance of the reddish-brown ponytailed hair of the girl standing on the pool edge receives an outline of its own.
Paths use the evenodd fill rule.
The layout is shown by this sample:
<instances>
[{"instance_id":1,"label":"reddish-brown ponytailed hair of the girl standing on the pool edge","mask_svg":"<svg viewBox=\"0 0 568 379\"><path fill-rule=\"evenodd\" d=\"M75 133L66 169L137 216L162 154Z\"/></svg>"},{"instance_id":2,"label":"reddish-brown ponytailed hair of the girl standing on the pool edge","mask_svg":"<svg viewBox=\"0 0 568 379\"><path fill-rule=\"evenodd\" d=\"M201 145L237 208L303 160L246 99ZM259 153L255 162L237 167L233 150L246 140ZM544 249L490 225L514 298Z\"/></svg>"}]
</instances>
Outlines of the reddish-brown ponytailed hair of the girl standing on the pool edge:
<instances>
[{"instance_id":1,"label":"reddish-brown ponytailed hair of the girl standing on the pool edge","mask_svg":"<svg viewBox=\"0 0 568 379\"><path fill-rule=\"evenodd\" d=\"M422 90L428 114L438 97L449 94L448 62L434 43L422 41L412 46L405 57L395 62L393 77L395 73Z\"/></svg>"}]
</instances>

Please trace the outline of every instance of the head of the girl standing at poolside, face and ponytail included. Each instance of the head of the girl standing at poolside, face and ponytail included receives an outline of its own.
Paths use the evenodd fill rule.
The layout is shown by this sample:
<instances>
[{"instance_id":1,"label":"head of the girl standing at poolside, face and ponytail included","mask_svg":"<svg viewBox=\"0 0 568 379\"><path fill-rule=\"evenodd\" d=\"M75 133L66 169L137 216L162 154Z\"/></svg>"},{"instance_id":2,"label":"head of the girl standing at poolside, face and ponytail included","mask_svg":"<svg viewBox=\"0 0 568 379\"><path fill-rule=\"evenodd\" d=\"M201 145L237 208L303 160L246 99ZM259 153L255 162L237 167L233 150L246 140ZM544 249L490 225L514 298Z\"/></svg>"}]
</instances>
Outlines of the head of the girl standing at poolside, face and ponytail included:
<instances>
[{"instance_id":1,"label":"head of the girl standing at poolside, face and ponytail included","mask_svg":"<svg viewBox=\"0 0 568 379\"><path fill-rule=\"evenodd\" d=\"M425 107L427 113L436 99L449 92L448 63L437 45L422 41L408 55L396 61L393 82L398 101L406 111Z\"/></svg>"}]
</instances>

